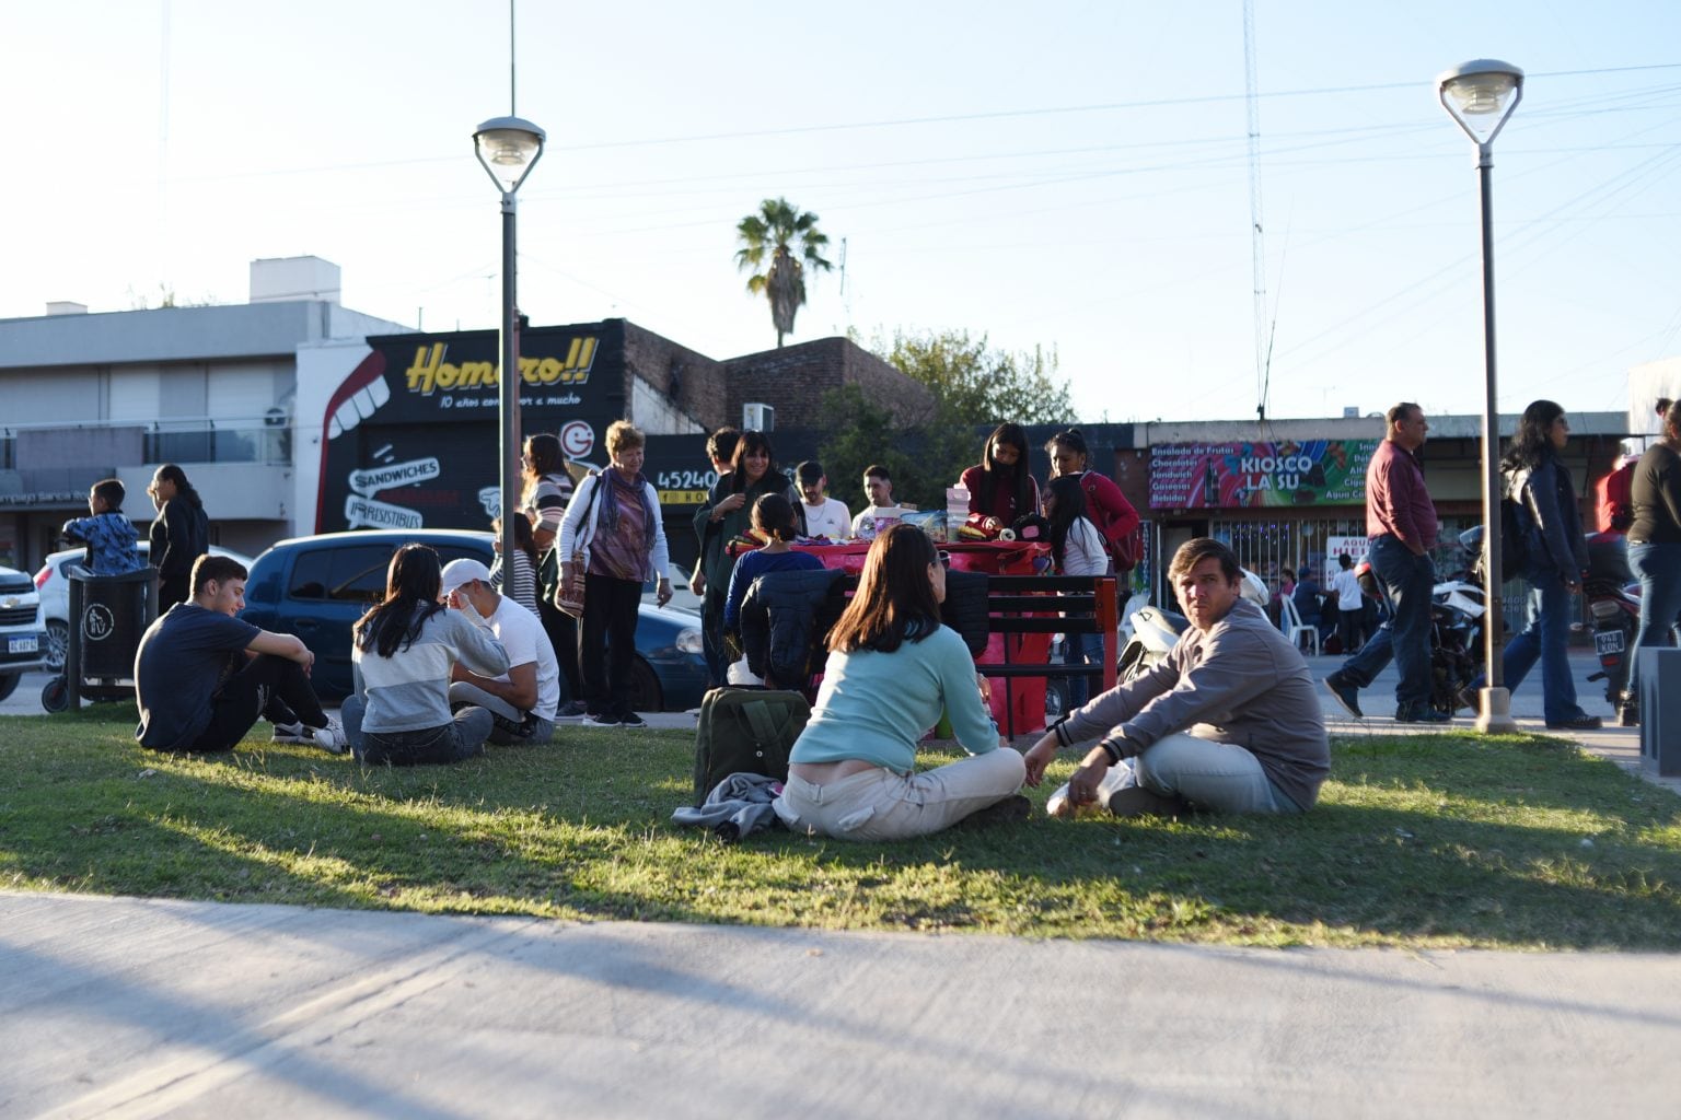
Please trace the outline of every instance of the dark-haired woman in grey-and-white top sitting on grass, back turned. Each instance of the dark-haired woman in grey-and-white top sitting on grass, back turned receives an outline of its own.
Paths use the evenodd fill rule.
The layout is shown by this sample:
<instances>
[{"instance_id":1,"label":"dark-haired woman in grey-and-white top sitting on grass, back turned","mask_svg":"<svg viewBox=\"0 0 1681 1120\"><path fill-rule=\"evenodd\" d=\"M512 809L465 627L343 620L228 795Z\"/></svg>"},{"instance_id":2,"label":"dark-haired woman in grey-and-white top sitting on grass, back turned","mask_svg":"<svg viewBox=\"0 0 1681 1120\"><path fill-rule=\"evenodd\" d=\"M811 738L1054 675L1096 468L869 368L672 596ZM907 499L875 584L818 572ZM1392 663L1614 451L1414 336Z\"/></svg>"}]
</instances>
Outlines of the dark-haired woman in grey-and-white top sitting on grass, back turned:
<instances>
[{"instance_id":1,"label":"dark-haired woman in grey-and-white top sitting on grass, back turned","mask_svg":"<svg viewBox=\"0 0 1681 1120\"><path fill-rule=\"evenodd\" d=\"M370 766L459 762L484 751L487 709L449 712L456 663L484 677L508 672L508 650L482 620L439 603L442 566L425 544L405 544L385 571L385 598L351 630L356 692L345 699L345 737Z\"/></svg>"}]
</instances>

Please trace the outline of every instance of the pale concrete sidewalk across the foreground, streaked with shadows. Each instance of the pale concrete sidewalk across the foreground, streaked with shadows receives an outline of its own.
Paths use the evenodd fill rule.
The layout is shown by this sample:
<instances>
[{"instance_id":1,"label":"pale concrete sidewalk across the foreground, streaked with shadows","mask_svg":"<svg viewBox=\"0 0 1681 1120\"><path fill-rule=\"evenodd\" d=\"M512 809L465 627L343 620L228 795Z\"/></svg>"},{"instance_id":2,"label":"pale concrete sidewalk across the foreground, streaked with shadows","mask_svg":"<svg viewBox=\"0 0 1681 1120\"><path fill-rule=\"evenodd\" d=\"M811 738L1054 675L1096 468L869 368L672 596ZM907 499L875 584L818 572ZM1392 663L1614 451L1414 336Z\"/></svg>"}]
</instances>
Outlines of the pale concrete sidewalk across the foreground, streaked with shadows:
<instances>
[{"instance_id":1,"label":"pale concrete sidewalk across the foreground, streaked with shadows","mask_svg":"<svg viewBox=\"0 0 1681 1120\"><path fill-rule=\"evenodd\" d=\"M7 1117L1669 1115L1681 957L0 893Z\"/></svg>"}]
</instances>

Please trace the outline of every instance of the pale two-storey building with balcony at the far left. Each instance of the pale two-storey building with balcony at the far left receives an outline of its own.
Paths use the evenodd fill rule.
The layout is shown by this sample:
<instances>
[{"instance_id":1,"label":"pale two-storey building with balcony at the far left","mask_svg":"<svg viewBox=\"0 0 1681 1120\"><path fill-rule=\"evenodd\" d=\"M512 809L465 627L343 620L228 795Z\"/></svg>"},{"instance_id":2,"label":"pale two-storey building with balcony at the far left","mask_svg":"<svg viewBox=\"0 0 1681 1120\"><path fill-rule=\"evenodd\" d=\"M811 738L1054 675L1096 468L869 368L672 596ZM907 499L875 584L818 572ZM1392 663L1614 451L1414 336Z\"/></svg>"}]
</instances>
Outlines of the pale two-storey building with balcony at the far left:
<instances>
[{"instance_id":1,"label":"pale two-storey building with balcony at the far left","mask_svg":"<svg viewBox=\"0 0 1681 1120\"><path fill-rule=\"evenodd\" d=\"M146 484L166 462L198 489L225 547L256 554L311 532L296 460L319 438L319 406L299 415L298 401L321 390L299 383L311 376L299 353L410 329L346 311L338 294L338 265L291 257L252 262L247 304L89 314L59 302L0 319L0 564L39 564L111 475L145 532Z\"/></svg>"}]
</instances>

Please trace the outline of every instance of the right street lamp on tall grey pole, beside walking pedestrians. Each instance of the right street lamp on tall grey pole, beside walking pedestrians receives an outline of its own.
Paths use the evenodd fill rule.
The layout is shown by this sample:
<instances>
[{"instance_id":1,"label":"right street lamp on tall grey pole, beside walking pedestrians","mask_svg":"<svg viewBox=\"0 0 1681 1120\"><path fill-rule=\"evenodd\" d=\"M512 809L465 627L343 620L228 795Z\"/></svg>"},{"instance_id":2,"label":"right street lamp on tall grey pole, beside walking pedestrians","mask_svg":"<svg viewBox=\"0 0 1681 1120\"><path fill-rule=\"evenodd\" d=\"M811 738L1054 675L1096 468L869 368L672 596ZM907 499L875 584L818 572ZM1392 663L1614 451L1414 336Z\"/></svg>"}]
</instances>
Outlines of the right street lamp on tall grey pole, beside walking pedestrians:
<instances>
[{"instance_id":1,"label":"right street lamp on tall grey pole, beside walking pedestrians","mask_svg":"<svg viewBox=\"0 0 1681 1120\"><path fill-rule=\"evenodd\" d=\"M1494 406L1494 225L1489 212L1489 178L1494 138L1523 101L1523 71L1510 62L1476 59L1436 79L1447 114L1476 144L1483 186L1483 688L1476 729L1516 730L1511 693L1501 680L1504 620L1499 610L1499 411Z\"/></svg>"}]
</instances>

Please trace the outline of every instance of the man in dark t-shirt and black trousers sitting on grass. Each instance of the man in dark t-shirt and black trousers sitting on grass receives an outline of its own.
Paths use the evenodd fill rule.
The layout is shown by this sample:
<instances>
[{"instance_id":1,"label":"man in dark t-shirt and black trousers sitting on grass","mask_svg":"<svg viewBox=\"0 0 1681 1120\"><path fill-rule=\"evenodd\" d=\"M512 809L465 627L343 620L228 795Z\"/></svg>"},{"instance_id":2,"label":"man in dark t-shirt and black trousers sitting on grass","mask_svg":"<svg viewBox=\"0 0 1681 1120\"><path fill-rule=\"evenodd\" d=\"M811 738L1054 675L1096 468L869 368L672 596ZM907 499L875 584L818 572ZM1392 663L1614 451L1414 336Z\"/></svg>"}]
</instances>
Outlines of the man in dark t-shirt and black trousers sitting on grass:
<instances>
[{"instance_id":1,"label":"man in dark t-shirt and black trousers sitting on grass","mask_svg":"<svg viewBox=\"0 0 1681 1120\"><path fill-rule=\"evenodd\" d=\"M235 618L245 608L247 574L227 556L200 556L192 571L193 598L146 626L134 655L140 746L232 751L257 717L267 715L276 725L301 720L294 742L345 751L345 732L309 687L309 646Z\"/></svg>"}]
</instances>

